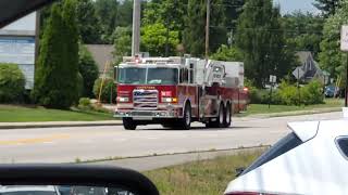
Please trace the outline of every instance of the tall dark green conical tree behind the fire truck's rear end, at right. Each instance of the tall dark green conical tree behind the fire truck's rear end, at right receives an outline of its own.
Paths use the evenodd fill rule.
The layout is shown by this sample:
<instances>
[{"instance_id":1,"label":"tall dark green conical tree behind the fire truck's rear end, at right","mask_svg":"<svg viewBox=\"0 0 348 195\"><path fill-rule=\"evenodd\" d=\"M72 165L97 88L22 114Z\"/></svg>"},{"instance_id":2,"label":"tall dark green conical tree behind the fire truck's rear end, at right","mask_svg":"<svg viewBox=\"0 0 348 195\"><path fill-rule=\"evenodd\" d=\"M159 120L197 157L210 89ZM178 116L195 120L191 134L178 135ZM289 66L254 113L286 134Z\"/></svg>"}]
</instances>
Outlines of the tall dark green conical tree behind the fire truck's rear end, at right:
<instances>
[{"instance_id":1,"label":"tall dark green conical tree behind the fire truck's rear end, at right","mask_svg":"<svg viewBox=\"0 0 348 195\"><path fill-rule=\"evenodd\" d=\"M285 57L279 9L271 0L248 0L238 18L236 43L245 53L246 76L264 87L270 75L282 78L294 65Z\"/></svg>"}]
</instances>

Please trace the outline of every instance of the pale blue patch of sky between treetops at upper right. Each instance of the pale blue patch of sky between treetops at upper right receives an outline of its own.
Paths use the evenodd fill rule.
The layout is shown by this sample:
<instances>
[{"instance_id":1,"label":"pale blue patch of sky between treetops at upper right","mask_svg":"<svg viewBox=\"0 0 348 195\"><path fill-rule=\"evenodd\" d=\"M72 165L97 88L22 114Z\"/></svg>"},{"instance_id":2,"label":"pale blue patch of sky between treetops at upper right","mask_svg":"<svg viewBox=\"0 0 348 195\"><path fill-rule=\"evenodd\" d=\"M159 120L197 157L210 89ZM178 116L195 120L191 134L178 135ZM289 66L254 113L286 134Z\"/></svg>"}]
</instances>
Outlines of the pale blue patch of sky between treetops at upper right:
<instances>
[{"instance_id":1,"label":"pale blue patch of sky between treetops at upper right","mask_svg":"<svg viewBox=\"0 0 348 195\"><path fill-rule=\"evenodd\" d=\"M281 4L282 14L291 13L300 10L301 12L319 13L312 5L314 0L274 0L274 3Z\"/></svg>"}]
</instances>

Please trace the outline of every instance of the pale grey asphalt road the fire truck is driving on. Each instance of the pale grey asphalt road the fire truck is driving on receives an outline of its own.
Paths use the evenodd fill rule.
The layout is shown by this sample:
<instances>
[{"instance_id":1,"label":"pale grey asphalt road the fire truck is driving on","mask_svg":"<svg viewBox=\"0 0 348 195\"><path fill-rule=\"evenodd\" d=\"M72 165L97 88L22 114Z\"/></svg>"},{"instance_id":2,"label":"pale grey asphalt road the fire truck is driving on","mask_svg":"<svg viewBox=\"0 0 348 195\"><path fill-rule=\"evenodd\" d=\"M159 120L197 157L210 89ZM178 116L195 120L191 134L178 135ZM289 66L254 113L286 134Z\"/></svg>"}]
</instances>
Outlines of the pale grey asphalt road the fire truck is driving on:
<instances>
[{"instance_id":1,"label":"pale grey asphalt road the fire truck is driving on","mask_svg":"<svg viewBox=\"0 0 348 195\"><path fill-rule=\"evenodd\" d=\"M125 131L120 126L0 130L0 162L73 162L76 159L270 145L287 134L288 121L341 118L340 113L278 118L235 118L233 128L164 130L161 126Z\"/></svg>"}]
</instances>

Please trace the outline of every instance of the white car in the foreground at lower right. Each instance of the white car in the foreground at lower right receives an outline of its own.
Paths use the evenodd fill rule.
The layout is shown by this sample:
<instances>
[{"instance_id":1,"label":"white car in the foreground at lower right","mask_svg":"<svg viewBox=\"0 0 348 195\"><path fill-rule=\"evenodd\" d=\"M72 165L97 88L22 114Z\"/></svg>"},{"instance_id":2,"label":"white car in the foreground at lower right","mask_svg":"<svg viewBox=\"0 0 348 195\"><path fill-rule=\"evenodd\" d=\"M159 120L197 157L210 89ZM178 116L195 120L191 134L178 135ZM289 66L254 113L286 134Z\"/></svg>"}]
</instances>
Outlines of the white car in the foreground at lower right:
<instances>
[{"instance_id":1,"label":"white car in the foreground at lower right","mask_svg":"<svg viewBox=\"0 0 348 195\"><path fill-rule=\"evenodd\" d=\"M294 122L225 195L348 194L348 119Z\"/></svg>"}]
</instances>

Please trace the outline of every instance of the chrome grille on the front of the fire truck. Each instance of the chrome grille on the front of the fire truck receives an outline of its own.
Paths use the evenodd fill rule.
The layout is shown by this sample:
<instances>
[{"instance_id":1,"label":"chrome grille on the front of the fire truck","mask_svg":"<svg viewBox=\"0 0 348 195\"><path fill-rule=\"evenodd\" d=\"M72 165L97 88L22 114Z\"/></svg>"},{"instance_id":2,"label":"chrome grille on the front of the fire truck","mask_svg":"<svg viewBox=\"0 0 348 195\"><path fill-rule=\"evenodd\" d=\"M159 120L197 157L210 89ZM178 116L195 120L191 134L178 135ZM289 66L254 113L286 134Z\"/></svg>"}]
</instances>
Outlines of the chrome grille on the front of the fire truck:
<instances>
[{"instance_id":1,"label":"chrome grille on the front of the fire truck","mask_svg":"<svg viewBox=\"0 0 348 195\"><path fill-rule=\"evenodd\" d=\"M135 109L157 109L158 95L157 90L134 90L133 103Z\"/></svg>"}]
</instances>

